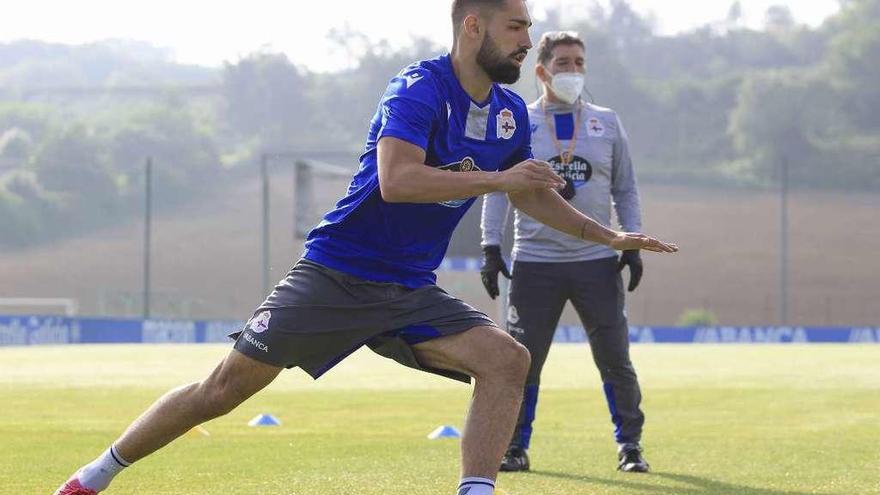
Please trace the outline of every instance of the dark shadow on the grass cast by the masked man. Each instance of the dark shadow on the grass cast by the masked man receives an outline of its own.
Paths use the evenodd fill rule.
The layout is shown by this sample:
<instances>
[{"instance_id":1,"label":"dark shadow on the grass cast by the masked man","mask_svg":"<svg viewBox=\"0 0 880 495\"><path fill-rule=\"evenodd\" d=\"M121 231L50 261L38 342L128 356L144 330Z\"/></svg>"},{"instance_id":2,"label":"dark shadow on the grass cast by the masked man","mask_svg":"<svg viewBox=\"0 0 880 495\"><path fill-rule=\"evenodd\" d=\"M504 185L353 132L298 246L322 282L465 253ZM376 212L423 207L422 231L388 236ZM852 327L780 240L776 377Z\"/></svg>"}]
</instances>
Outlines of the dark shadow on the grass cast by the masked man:
<instances>
[{"instance_id":1,"label":"dark shadow on the grass cast by the masked man","mask_svg":"<svg viewBox=\"0 0 880 495\"><path fill-rule=\"evenodd\" d=\"M674 473L650 473L626 475L630 479L619 478L597 478L594 476L585 476L579 474L560 473L555 471L529 471L523 473L527 476L546 476L549 478L558 478L571 481L581 481L584 483L593 483L597 485L608 485L619 488L626 488L634 491L645 493L669 494L669 495L812 495L812 493L790 490L777 490L773 488L756 488L745 485L737 485L724 481L717 481L709 478L701 478L687 474ZM662 478L665 480L675 481L687 486L657 486L641 481L635 481L638 478L648 480L650 478Z\"/></svg>"}]
</instances>

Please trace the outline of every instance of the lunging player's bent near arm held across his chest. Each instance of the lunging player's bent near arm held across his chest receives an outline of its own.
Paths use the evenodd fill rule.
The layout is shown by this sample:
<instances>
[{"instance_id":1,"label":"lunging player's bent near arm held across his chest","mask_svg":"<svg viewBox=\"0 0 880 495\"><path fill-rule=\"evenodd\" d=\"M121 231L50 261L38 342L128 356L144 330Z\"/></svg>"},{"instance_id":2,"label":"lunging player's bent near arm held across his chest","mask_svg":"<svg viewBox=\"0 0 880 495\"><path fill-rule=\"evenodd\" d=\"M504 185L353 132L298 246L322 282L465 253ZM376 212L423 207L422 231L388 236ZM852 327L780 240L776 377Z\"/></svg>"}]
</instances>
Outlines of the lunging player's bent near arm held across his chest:
<instances>
[{"instance_id":1,"label":"lunging player's bent near arm held across his chest","mask_svg":"<svg viewBox=\"0 0 880 495\"><path fill-rule=\"evenodd\" d=\"M402 139L378 145L379 190L389 203L438 203L493 191L556 189L565 186L545 162L526 160L504 172L450 172L425 166L425 150Z\"/></svg>"}]
</instances>

